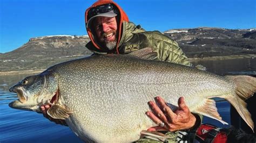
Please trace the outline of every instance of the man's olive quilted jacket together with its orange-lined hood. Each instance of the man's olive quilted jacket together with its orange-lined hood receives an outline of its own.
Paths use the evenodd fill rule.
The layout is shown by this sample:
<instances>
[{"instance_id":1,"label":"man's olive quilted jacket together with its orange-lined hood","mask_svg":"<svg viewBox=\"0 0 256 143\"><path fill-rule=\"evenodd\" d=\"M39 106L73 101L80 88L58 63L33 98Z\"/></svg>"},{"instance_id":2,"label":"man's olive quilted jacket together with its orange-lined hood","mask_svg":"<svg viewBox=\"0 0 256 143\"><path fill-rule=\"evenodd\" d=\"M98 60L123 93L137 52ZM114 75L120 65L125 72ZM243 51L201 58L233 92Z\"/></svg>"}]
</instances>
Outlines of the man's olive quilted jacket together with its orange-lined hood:
<instances>
[{"instance_id":1,"label":"man's olive quilted jacket together with its orange-lined hood","mask_svg":"<svg viewBox=\"0 0 256 143\"><path fill-rule=\"evenodd\" d=\"M97 6L112 4L113 9L117 10L118 15L117 20L117 45L113 51L109 51L105 47L102 47L95 39L94 30L92 27L86 26L86 31L91 39L91 41L86 45L94 53L106 54L106 53L117 53L117 54L127 54L133 51L137 51L142 48L152 48L153 52L156 52L156 58L160 61L169 61L173 63L178 63L186 66L192 66L192 64L187 60L187 57L178 46L177 42L170 39L163 33L159 31L145 31L139 25L136 26L129 21L128 16L125 11L112 0L99 0L90 6L90 8L85 11L85 25L89 23L91 18L89 13L90 10L97 8Z\"/></svg>"}]
</instances>

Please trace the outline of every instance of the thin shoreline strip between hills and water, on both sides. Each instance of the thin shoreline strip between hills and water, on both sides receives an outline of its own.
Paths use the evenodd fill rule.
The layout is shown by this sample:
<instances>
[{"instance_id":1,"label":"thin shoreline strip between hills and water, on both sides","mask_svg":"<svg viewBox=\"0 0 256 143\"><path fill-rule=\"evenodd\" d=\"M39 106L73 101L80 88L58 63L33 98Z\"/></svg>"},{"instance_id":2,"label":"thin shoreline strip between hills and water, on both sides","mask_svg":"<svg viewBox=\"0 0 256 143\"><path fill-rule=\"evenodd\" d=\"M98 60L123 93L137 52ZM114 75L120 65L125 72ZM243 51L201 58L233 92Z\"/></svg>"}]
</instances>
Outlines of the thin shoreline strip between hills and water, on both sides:
<instances>
[{"instance_id":1,"label":"thin shoreline strip between hills and water, on both sides","mask_svg":"<svg viewBox=\"0 0 256 143\"><path fill-rule=\"evenodd\" d=\"M232 60L232 59L254 59L256 54L246 54L246 55L227 55L227 56L212 56L205 58L188 58L190 62L195 61L219 61L219 60ZM41 73L45 69L36 69L36 70L21 70L21 71L3 71L0 72L1 75L16 75L16 74L37 74Z\"/></svg>"}]
</instances>

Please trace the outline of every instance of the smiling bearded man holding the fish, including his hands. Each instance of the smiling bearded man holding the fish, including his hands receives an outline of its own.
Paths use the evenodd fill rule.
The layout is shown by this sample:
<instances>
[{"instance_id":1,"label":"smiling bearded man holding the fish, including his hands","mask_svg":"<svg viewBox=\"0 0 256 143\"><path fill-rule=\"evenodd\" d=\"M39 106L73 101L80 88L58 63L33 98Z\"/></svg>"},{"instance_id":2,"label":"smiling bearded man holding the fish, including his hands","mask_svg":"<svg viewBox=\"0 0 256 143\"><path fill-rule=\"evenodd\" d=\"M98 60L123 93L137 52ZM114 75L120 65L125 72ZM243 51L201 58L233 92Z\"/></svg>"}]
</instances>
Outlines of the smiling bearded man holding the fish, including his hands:
<instances>
[{"instance_id":1,"label":"smiling bearded man holding the fish, including his hands","mask_svg":"<svg viewBox=\"0 0 256 143\"><path fill-rule=\"evenodd\" d=\"M97 1L85 11L85 24L91 41L86 45L96 54L128 54L138 49L150 47L156 52L156 60L179 63L192 66L177 42L158 31L145 31L139 25L129 22L126 13L113 1ZM184 98L179 98L179 109L176 112L166 106L165 101L156 97L156 103L150 101L153 112L146 112L159 126L149 128L149 131L178 131L194 129L201 123L198 115L192 114L187 108ZM49 105L41 109L46 116ZM48 117L49 118L49 117ZM57 123L64 124L62 120ZM176 140L177 134L174 135ZM146 140L148 141L148 140Z\"/></svg>"}]
</instances>

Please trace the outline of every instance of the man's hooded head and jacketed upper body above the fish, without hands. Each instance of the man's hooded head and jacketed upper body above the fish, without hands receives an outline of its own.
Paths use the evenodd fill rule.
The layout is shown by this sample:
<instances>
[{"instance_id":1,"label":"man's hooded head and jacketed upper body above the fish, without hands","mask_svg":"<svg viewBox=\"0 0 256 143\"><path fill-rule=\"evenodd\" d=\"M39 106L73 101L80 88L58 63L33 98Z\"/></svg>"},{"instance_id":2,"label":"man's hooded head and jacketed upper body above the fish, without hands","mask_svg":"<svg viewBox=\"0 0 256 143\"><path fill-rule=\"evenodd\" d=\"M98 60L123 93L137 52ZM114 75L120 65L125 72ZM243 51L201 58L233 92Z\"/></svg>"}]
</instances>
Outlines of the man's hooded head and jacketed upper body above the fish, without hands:
<instances>
[{"instance_id":1,"label":"man's hooded head and jacketed upper body above the fish, without hands","mask_svg":"<svg viewBox=\"0 0 256 143\"><path fill-rule=\"evenodd\" d=\"M112 1L97 1L88 8L85 24L91 39L86 47L94 53L127 54L151 47L157 53L157 60L192 66L177 42L159 31L146 32L140 25L129 22L123 9Z\"/></svg>"}]
</instances>

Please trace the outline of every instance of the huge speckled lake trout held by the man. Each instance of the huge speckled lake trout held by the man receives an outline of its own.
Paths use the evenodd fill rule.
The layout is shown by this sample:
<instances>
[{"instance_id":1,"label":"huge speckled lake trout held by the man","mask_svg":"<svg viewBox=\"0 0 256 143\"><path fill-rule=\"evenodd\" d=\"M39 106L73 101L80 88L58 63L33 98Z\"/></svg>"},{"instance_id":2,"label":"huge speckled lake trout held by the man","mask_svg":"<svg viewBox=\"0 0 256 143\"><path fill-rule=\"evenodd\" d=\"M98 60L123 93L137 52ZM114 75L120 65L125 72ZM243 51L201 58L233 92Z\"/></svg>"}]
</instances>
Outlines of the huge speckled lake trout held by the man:
<instances>
[{"instance_id":1,"label":"huge speckled lake trout held by the man","mask_svg":"<svg viewBox=\"0 0 256 143\"><path fill-rule=\"evenodd\" d=\"M161 96L177 105L184 96L192 112L221 121L213 97L224 98L253 129L245 100L256 90L251 76L218 76L174 63L131 55L94 55L52 66L10 88L18 99L11 108L65 119L79 138L96 142L132 142L157 126L145 115L147 102Z\"/></svg>"}]
</instances>

